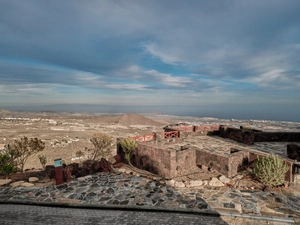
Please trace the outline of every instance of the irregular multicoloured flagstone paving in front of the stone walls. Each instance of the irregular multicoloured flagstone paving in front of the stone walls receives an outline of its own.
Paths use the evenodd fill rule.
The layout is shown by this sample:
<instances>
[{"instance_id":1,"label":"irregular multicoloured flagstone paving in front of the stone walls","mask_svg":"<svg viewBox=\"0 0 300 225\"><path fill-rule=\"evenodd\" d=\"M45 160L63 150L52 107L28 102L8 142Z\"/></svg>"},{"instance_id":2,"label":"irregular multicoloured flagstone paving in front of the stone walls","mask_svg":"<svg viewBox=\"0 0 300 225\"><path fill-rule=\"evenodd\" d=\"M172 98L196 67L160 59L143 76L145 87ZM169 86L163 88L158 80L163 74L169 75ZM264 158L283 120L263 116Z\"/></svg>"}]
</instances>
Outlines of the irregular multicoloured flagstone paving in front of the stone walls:
<instances>
[{"instance_id":1,"label":"irregular multicoloured flagstone paving in front of the stone walls","mask_svg":"<svg viewBox=\"0 0 300 225\"><path fill-rule=\"evenodd\" d=\"M300 218L300 198L229 187L174 188L140 176L97 173L62 185L0 187L0 202L104 205Z\"/></svg>"}]
</instances>

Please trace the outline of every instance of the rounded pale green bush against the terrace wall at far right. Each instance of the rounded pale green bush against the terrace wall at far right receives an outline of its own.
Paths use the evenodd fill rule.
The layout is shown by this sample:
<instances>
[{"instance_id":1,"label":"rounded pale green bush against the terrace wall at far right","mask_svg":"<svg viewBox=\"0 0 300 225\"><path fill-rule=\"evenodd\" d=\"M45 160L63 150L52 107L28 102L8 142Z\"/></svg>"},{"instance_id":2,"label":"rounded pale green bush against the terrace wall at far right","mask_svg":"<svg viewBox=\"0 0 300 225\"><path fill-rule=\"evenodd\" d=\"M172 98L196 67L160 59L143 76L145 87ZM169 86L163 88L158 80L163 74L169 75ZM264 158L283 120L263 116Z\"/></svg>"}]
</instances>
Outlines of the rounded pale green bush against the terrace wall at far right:
<instances>
[{"instance_id":1,"label":"rounded pale green bush against the terrace wall at far right","mask_svg":"<svg viewBox=\"0 0 300 225\"><path fill-rule=\"evenodd\" d=\"M289 170L286 163L278 156L258 158L252 173L263 185L276 187L284 183L285 174Z\"/></svg>"}]
</instances>

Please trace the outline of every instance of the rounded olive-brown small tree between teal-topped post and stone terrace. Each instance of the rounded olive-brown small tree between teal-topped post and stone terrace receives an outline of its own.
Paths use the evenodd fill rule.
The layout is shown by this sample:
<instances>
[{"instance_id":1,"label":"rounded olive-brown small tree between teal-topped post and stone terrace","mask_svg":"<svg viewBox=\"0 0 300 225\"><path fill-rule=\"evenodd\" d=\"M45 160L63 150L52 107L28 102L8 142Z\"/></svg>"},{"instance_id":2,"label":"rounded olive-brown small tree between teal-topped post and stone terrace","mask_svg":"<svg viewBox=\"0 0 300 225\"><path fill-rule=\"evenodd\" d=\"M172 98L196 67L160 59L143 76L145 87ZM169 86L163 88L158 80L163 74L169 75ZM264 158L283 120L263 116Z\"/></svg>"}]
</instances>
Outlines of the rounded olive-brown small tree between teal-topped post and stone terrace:
<instances>
[{"instance_id":1,"label":"rounded olive-brown small tree between teal-topped post and stone terrace","mask_svg":"<svg viewBox=\"0 0 300 225\"><path fill-rule=\"evenodd\" d=\"M96 133L90 141L93 144L93 148L85 148L88 153L88 159L97 160L100 158L107 158L111 155L111 149L113 146L112 137L103 133Z\"/></svg>"}]
</instances>

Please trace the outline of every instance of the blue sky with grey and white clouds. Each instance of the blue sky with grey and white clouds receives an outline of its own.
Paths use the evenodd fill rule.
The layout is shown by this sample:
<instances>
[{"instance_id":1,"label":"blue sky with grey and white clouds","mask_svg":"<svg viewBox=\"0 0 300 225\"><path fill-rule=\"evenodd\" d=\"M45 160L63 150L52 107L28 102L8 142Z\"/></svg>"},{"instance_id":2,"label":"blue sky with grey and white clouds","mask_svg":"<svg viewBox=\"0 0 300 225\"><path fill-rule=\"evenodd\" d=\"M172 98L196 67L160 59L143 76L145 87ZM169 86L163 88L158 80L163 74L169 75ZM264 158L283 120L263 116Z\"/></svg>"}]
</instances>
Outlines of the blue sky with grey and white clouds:
<instances>
[{"instance_id":1,"label":"blue sky with grey and white clouds","mask_svg":"<svg viewBox=\"0 0 300 225\"><path fill-rule=\"evenodd\" d=\"M299 0L0 0L0 108L300 122Z\"/></svg>"}]
</instances>

